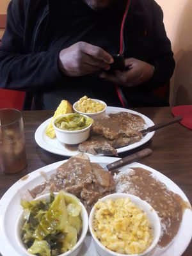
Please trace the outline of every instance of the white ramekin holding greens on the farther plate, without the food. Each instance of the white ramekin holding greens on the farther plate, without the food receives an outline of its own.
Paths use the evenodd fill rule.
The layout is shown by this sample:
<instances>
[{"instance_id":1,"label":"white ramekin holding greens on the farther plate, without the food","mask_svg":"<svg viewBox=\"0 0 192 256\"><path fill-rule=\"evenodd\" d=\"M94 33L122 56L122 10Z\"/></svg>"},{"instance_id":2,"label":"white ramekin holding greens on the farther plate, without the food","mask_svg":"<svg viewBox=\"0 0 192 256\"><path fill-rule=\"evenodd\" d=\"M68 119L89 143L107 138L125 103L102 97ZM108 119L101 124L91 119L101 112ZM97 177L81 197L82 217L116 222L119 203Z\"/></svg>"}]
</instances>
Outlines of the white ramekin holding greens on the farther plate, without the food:
<instances>
[{"instance_id":1,"label":"white ramekin holding greens on the farther plate, without the food","mask_svg":"<svg viewBox=\"0 0 192 256\"><path fill-rule=\"evenodd\" d=\"M90 136L92 124L88 125L88 127L85 127L84 129L77 130L77 131L68 131L68 130L63 130L56 127L55 125L56 120L58 120L62 116L67 116L67 115L72 115L72 113L58 116L52 122L54 131L56 133L56 138L58 139L58 141L60 141L61 143L69 144L69 145L75 145L87 140ZM87 115L83 115L83 116L85 116L85 118L89 117Z\"/></svg>"}]
</instances>

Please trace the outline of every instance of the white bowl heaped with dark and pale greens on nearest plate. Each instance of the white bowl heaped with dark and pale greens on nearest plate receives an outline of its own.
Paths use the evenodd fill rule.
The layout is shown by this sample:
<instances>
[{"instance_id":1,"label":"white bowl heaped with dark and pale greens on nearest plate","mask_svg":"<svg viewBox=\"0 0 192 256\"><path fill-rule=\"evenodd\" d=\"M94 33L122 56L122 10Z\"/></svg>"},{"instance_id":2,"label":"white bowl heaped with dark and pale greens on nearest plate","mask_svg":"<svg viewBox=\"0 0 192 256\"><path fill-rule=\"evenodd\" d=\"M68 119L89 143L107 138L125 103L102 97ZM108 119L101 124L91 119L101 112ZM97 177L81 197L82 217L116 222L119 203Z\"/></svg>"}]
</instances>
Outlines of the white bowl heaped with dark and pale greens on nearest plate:
<instances>
[{"instance_id":1,"label":"white bowl heaped with dark and pale greens on nearest plate","mask_svg":"<svg viewBox=\"0 0 192 256\"><path fill-rule=\"evenodd\" d=\"M20 255L78 255L88 231L88 213L76 196L47 193L30 202L21 200L21 205L15 227Z\"/></svg>"}]
</instances>

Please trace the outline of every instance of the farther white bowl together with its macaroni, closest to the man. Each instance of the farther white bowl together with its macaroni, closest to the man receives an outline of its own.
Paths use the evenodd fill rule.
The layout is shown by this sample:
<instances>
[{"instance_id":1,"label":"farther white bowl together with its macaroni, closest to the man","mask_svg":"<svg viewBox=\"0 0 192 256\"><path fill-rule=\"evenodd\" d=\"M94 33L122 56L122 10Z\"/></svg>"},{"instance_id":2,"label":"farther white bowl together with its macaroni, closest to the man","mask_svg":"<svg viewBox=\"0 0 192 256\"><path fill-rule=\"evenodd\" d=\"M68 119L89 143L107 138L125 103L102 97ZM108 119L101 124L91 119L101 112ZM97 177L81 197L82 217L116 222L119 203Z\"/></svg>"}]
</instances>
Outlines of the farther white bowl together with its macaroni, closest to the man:
<instances>
[{"instance_id":1,"label":"farther white bowl together with its macaroni, closest to the man","mask_svg":"<svg viewBox=\"0 0 192 256\"><path fill-rule=\"evenodd\" d=\"M105 113L107 104L102 100L84 96L74 103L73 108L77 113L95 118Z\"/></svg>"}]
</instances>

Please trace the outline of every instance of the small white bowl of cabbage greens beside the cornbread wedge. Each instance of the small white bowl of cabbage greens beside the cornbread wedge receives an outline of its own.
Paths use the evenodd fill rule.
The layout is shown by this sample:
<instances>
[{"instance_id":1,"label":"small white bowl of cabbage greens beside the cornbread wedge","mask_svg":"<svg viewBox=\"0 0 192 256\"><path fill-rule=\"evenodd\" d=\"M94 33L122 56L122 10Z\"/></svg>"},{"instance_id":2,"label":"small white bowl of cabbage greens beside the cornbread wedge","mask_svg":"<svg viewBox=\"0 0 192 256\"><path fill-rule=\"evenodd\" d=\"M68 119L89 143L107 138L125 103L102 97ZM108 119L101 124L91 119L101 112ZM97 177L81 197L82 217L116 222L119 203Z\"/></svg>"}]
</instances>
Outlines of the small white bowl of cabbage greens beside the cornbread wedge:
<instances>
[{"instance_id":1,"label":"small white bowl of cabbage greens beside the cornbread wedge","mask_svg":"<svg viewBox=\"0 0 192 256\"><path fill-rule=\"evenodd\" d=\"M68 145L79 144L87 140L92 124L92 118L79 113L61 115L52 122L58 141Z\"/></svg>"}]
</instances>

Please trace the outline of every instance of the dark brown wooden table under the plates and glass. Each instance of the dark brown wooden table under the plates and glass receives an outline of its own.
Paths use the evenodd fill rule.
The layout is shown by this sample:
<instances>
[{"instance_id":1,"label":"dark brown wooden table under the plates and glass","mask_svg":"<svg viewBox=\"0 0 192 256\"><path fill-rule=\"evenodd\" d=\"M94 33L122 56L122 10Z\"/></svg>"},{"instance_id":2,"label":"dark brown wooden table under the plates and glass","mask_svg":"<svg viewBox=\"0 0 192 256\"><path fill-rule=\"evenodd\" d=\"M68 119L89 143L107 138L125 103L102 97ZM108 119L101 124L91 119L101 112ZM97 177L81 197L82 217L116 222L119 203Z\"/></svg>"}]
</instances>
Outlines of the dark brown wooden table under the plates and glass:
<instances>
[{"instance_id":1,"label":"dark brown wooden table under the plates and glass","mask_svg":"<svg viewBox=\"0 0 192 256\"><path fill-rule=\"evenodd\" d=\"M135 111L148 116L155 124L164 122L172 117L169 107L163 108L135 108ZM26 173L63 159L46 152L38 147L35 142L35 131L47 118L51 117L53 111L24 111L24 128L26 131L26 150L28 157L28 168L15 175L0 173L0 198L12 184ZM172 124L156 131L152 140L140 148L120 154L119 157L127 156L138 149L151 148L154 152L151 156L142 159L140 163L146 164L173 180L184 191L189 201L192 202L192 131L180 124ZM1 213L0 213L1 214ZM189 244L184 256L191 256L192 242ZM6 255L4 255L6 256ZM174 256L174 255L170 255Z\"/></svg>"}]
</instances>

